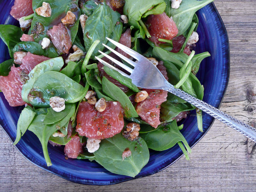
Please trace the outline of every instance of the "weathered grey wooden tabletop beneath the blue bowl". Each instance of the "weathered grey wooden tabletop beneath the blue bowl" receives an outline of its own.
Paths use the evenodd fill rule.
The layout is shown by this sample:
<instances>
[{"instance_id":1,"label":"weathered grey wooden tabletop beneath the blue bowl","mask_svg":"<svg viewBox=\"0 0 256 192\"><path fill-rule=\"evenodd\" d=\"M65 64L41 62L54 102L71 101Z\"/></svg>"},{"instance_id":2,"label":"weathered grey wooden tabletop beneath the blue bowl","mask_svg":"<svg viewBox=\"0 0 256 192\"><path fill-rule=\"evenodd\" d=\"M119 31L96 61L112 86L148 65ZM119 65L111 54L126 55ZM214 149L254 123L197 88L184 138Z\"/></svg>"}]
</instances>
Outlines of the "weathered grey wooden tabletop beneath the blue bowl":
<instances>
[{"instance_id":1,"label":"weathered grey wooden tabletop beneath the blue bowl","mask_svg":"<svg viewBox=\"0 0 256 192\"><path fill-rule=\"evenodd\" d=\"M256 0L215 0L230 39L230 82L221 110L256 125ZM184 157L152 176L109 186L79 185L26 160L0 129L0 191L252 191L255 144L215 121Z\"/></svg>"}]
</instances>

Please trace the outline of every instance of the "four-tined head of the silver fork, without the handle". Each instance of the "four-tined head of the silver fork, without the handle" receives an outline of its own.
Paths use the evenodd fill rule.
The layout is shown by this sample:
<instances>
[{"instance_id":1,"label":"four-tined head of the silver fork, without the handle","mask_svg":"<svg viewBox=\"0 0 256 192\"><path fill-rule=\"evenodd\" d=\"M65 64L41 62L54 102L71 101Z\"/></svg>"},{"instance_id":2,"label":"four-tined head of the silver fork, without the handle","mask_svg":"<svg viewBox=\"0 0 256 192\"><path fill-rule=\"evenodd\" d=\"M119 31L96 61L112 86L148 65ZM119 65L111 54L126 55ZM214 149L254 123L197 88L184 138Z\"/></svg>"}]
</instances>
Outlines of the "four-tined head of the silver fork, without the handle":
<instances>
[{"instance_id":1,"label":"four-tined head of the silver fork, without the handle","mask_svg":"<svg viewBox=\"0 0 256 192\"><path fill-rule=\"evenodd\" d=\"M147 58L145 58L143 55L139 54L138 52L135 52L134 50L112 40L107 38L108 41L112 42L115 46L117 46L122 51L126 52L128 55L130 55L132 58L136 59L138 62L134 62L131 59L128 59L124 55L121 55L114 49L111 49L110 47L105 46L107 49L111 50L115 55L123 59L125 62L128 62L131 66L134 68L130 68L127 65L117 61L116 59L112 58L109 55L106 55L105 53L99 51L102 55L110 59L112 62L120 66L121 68L125 69L127 72L131 74L126 74L125 72L122 72L118 68L115 68L114 66L110 65L109 63L103 61L102 59L99 59L98 57L95 57L99 62L101 62L103 65L105 65L108 68L112 68L116 71L118 71L121 75L131 78L131 81L134 85L141 88L148 88L148 89L161 89L165 87L166 85L166 79L162 75L162 73L158 70L158 68L150 62Z\"/></svg>"}]
</instances>

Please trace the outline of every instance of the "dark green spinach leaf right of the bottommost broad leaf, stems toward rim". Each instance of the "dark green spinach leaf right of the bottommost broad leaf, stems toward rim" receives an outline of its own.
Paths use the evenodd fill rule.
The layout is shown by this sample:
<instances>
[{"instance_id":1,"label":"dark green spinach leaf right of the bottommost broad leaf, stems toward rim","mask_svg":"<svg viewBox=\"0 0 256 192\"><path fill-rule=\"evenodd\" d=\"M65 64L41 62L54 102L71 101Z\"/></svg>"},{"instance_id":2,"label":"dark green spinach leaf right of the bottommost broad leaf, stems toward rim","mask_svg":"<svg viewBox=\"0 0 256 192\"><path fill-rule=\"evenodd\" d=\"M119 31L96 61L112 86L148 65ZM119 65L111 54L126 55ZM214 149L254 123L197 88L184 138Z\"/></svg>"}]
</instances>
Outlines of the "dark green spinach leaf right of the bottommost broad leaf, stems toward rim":
<instances>
[{"instance_id":1,"label":"dark green spinach leaf right of the bottommost broad leaf, stems toward rim","mask_svg":"<svg viewBox=\"0 0 256 192\"><path fill-rule=\"evenodd\" d=\"M186 139L184 138L184 136L181 134L177 127L176 120L172 121L170 124L167 124L166 126L161 126L159 129L155 131L149 133L141 133L140 136L145 140L145 142L148 145L148 148L152 150L167 150L173 147L179 141L181 141L186 146L188 153L191 153L191 149ZM187 151L183 149L182 151L187 158Z\"/></svg>"}]
</instances>

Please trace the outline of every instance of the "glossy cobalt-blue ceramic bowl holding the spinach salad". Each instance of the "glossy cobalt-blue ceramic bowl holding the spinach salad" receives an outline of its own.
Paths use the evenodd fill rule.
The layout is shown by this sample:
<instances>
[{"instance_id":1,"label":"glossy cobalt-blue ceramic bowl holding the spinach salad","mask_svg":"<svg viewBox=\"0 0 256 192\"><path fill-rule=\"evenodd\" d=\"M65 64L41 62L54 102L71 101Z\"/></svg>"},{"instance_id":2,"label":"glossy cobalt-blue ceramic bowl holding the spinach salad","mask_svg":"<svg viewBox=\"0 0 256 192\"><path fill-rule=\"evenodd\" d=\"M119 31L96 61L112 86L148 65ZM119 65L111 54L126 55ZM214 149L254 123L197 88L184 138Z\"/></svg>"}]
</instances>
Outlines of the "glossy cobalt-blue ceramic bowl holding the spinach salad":
<instances>
[{"instance_id":1,"label":"glossy cobalt-blue ceramic bowl holding the spinach salad","mask_svg":"<svg viewBox=\"0 0 256 192\"><path fill-rule=\"evenodd\" d=\"M1 1L1 24L18 25L18 22L9 14L13 2L14 0ZM203 101L218 108L229 80L230 52L228 36L213 3L198 11L197 15L200 21L197 30L200 40L195 47L195 51L196 53L208 51L211 54L211 57L203 60L197 77L205 88ZM0 47L0 62L3 62L9 59L9 53L1 40ZM0 93L0 124L12 141L16 138L16 124L22 109L23 107L10 107L3 94ZM203 133L201 133L197 129L197 118L192 114L184 120L184 128L182 130L191 147L207 133L214 120L213 117L204 114ZM151 150L148 164L135 178L132 178L108 172L95 162L78 159L66 160L63 147L53 147L51 145L48 146L48 149L53 166L47 167L43 157L42 146L37 137L30 131L25 133L16 147L20 153L36 166L69 181L88 185L110 185L149 176L167 168L183 155L177 145L161 152Z\"/></svg>"}]
</instances>

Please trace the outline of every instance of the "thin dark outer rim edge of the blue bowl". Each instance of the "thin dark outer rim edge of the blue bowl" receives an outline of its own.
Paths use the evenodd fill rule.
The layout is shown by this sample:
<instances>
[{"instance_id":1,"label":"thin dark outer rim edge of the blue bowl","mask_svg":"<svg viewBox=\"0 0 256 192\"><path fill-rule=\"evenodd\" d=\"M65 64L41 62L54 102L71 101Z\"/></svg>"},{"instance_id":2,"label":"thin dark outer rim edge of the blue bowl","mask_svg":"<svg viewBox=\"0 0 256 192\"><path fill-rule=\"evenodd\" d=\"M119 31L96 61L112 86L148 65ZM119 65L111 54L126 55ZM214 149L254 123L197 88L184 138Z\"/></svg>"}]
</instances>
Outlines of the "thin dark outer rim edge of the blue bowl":
<instances>
[{"instance_id":1,"label":"thin dark outer rim edge of the blue bowl","mask_svg":"<svg viewBox=\"0 0 256 192\"><path fill-rule=\"evenodd\" d=\"M224 98L224 95L226 94L226 90L227 90L227 87L228 87L228 84L229 84L229 79L230 79L230 44L229 44L229 38L228 38L227 31L226 31L226 27L225 27L225 25L224 25L224 23L223 23L223 20L222 20L221 16L220 16L220 13L218 12L218 10L217 10L217 8L215 7L214 3L212 2L212 3L208 4L208 6L210 6L210 7L212 8L213 12L215 12L215 13L217 14L217 17L219 18L219 20L220 20L220 22L221 22L221 26L222 26L222 28L220 29L220 31L222 31L222 33L225 34L225 36L227 37L227 39L226 39L226 40L227 40L227 42L226 42L226 43L227 43L227 46L226 46L227 50L226 50L226 52L227 52L227 54L228 54L228 58L227 58L227 59L228 59L228 62L226 63L226 64L227 64L226 85L225 85L226 87L225 87L225 88L223 89L223 91L222 91L222 95L223 95L223 98ZM217 108L220 108L220 105L221 105L222 102L223 102L223 98L221 99L220 104L219 104L219 106L218 106ZM210 130L210 128L212 127L214 121L215 121L215 119L212 117L212 122L211 122L209 128L208 128L205 132L203 132L202 136L199 137L199 138L197 139L197 141L196 141L192 146L190 146L190 148L194 147L194 146L205 136L205 134L206 134L206 133ZM2 127L1 123L0 123L0 127L3 129L3 131L7 134L7 136L10 138L11 142L13 143L11 137L9 136L9 134L7 133L7 131ZM109 183L91 183L91 182L85 183L85 182L78 182L78 181L75 181L75 180L71 180L68 176L65 177L65 176L59 175L58 173L52 172L51 170L46 169L46 168L44 168L43 166L40 166L40 165L34 163L34 162L31 161L30 159L28 159L28 158L20 151L20 149L19 149L16 145L15 145L15 147L16 147L16 149L17 149L28 161L30 161L31 163L33 163L33 164L36 165L37 167L39 167L39 168L41 168L41 169L43 169L43 170L46 170L47 172L51 172L51 173L53 173L54 175L59 176L59 177L61 177L61 178L63 178L63 179L66 179L66 180L68 180L68 181L71 181L71 182L74 182L74 183L78 183L78 184L83 184L83 185L113 185L113 184L118 184L118 183L121 183L121 182L133 180L133 179L138 179L138 178L150 176L150 175L153 175L153 174L155 174L155 173L157 173L157 172L160 172L160 171L162 171L162 170L168 168L168 167L171 166L173 163L175 163L177 160L179 160L182 156L184 156L184 154L182 154L181 156L179 156L177 159L175 159L175 160L174 160L173 162L171 162L170 164L169 164L168 162L164 163L164 168L160 168L160 169L154 170L154 171L152 171L152 172L148 172L148 173L146 173L146 174L144 174L144 175L141 175L141 176L130 177L130 178L128 178L128 179L119 180L119 181L110 181Z\"/></svg>"}]
</instances>

